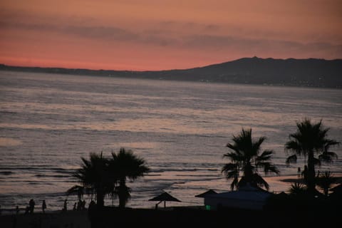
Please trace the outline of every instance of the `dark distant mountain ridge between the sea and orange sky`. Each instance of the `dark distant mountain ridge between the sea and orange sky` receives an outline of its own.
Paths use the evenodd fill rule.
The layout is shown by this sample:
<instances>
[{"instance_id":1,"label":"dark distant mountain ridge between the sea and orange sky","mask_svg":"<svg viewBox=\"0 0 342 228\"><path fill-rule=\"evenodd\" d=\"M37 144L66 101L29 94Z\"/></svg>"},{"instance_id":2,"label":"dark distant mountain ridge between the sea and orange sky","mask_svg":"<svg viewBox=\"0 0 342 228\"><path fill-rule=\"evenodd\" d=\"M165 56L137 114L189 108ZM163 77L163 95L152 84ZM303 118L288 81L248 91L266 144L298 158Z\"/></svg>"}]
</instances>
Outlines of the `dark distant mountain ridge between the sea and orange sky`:
<instances>
[{"instance_id":1,"label":"dark distant mountain ridge between the sea and orange sky","mask_svg":"<svg viewBox=\"0 0 342 228\"><path fill-rule=\"evenodd\" d=\"M274 59L254 57L240 58L236 61L199 68L170 71L95 71L87 69L19 67L1 64L0 70L176 81L342 88L342 59Z\"/></svg>"}]
</instances>

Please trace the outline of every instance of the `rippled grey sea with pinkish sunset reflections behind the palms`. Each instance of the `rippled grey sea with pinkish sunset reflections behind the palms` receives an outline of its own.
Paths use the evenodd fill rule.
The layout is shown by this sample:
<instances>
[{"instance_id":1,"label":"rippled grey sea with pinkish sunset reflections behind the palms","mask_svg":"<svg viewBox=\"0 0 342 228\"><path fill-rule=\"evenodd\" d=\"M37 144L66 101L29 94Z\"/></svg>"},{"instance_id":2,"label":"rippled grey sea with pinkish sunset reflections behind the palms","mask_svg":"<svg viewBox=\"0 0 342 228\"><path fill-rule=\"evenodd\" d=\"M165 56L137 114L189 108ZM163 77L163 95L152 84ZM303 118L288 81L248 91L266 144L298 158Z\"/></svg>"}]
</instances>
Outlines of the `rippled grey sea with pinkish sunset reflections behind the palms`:
<instances>
[{"instance_id":1,"label":"rippled grey sea with pinkish sunset reflections behind the palms","mask_svg":"<svg viewBox=\"0 0 342 228\"><path fill-rule=\"evenodd\" d=\"M342 141L342 90L0 71L1 209L23 209L31 198L38 211L43 199L47 210L64 199L71 209L77 197L66 190L77 184L71 173L81 157L120 147L151 169L128 182L128 207L154 207L148 199L162 191L182 201L167 206L202 205L195 195L229 190L222 156L242 128L266 136L262 149L276 152L281 176L296 175L305 159L286 166L284 144L304 118L323 120L329 138ZM338 160L321 172L342 173L342 147L334 149Z\"/></svg>"}]
</instances>

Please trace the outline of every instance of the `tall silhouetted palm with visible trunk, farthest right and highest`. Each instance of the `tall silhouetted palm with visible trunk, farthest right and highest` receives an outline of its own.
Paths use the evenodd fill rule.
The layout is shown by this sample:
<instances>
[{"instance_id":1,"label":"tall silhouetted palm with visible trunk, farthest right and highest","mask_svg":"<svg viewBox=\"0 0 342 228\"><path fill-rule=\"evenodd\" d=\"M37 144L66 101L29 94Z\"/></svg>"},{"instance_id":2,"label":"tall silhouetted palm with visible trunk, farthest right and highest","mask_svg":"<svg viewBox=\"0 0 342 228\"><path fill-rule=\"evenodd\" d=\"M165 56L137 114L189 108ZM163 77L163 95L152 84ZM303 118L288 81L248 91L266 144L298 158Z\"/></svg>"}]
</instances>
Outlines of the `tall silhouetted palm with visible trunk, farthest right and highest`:
<instances>
[{"instance_id":1,"label":"tall silhouetted palm with visible trunk, farthest right and highest","mask_svg":"<svg viewBox=\"0 0 342 228\"><path fill-rule=\"evenodd\" d=\"M335 152L328 151L333 145L338 145L340 142L327 139L329 128L323 128L322 120L316 124L311 124L311 120L305 119L301 123L296 123L296 133L289 135L289 142L285 144L285 150L293 152L286 159L286 164L296 162L297 155L307 157L307 186L309 192L314 192L316 187L315 181L315 165L321 165L322 161L331 162L337 155ZM321 154L317 159L314 155Z\"/></svg>"}]
</instances>

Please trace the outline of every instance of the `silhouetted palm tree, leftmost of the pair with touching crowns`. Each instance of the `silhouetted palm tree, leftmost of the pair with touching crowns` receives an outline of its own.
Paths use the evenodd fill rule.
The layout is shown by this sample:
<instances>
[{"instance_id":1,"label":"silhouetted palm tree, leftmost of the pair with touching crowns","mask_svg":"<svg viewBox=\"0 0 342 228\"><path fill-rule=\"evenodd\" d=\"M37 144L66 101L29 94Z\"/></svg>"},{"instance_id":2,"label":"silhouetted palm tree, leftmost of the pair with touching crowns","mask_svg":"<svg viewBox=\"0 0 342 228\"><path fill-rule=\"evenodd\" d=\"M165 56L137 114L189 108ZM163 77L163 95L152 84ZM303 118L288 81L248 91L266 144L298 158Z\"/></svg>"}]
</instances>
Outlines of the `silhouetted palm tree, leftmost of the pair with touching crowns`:
<instances>
[{"instance_id":1,"label":"silhouetted palm tree, leftmost of the pair with touching crowns","mask_svg":"<svg viewBox=\"0 0 342 228\"><path fill-rule=\"evenodd\" d=\"M96 201L98 207L103 207L105 195L114 191L115 180L109 175L109 160L100 155L90 153L90 160L81 157L83 163L81 168L73 173L73 177L85 190L96 193Z\"/></svg>"}]
</instances>

